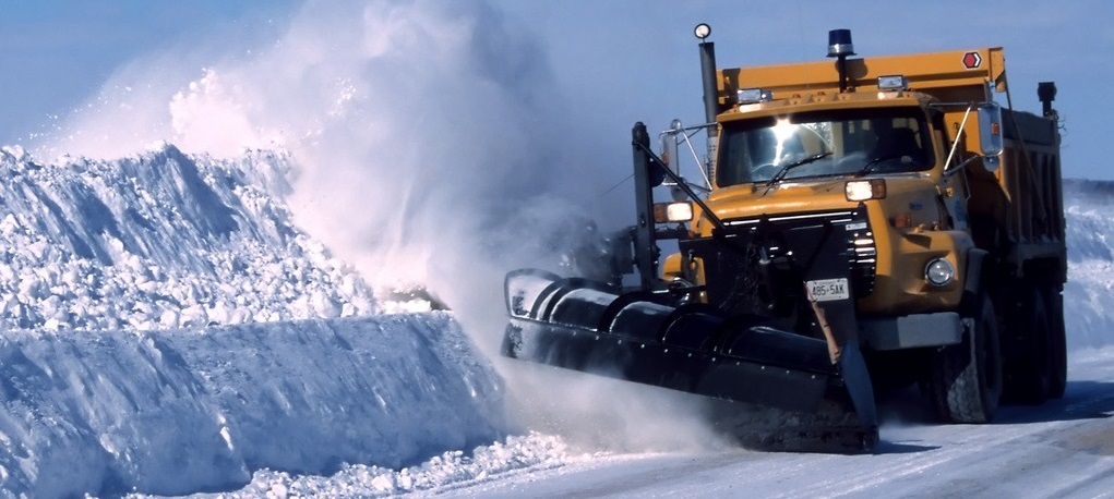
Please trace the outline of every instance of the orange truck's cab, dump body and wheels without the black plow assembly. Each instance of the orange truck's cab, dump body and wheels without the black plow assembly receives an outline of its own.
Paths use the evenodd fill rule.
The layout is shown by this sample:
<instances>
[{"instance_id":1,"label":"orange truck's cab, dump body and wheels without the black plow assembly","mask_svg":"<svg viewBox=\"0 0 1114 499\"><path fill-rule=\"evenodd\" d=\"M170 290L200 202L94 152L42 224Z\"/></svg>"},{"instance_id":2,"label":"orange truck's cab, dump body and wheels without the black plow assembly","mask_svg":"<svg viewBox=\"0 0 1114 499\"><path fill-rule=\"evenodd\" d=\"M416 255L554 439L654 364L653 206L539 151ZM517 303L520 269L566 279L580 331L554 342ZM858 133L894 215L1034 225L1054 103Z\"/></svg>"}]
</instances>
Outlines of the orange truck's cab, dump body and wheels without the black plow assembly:
<instances>
[{"instance_id":1,"label":"orange truck's cab, dump body and wheels without the black plow assembly","mask_svg":"<svg viewBox=\"0 0 1114 499\"><path fill-rule=\"evenodd\" d=\"M830 39L834 61L716 71L706 208L724 223L866 211L869 230L849 240L857 286L805 292L853 298L876 388L924 381L955 422L989 421L999 393L1061 397L1055 87L1038 86L1043 116L1003 109L1000 48L849 59L850 33ZM709 217L695 220L694 237L711 237ZM665 262L667 279L710 272L684 253Z\"/></svg>"}]
</instances>

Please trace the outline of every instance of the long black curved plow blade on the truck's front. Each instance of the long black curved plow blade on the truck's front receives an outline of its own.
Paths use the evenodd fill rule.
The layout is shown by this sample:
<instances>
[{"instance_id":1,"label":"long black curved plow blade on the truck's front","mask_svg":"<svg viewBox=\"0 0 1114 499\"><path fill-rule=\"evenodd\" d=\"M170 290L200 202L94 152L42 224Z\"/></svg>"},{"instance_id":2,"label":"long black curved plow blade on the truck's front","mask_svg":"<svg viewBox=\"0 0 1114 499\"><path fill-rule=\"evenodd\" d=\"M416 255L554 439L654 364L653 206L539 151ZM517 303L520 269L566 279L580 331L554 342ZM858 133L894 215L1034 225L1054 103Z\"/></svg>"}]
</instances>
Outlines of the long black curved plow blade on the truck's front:
<instances>
[{"instance_id":1,"label":"long black curved plow blade on the truck's front","mask_svg":"<svg viewBox=\"0 0 1114 499\"><path fill-rule=\"evenodd\" d=\"M507 357L703 396L716 427L747 447L861 452L878 440L853 345L833 365L823 340L758 317L670 307L537 270L508 275L506 293Z\"/></svg>"}]
</instances>

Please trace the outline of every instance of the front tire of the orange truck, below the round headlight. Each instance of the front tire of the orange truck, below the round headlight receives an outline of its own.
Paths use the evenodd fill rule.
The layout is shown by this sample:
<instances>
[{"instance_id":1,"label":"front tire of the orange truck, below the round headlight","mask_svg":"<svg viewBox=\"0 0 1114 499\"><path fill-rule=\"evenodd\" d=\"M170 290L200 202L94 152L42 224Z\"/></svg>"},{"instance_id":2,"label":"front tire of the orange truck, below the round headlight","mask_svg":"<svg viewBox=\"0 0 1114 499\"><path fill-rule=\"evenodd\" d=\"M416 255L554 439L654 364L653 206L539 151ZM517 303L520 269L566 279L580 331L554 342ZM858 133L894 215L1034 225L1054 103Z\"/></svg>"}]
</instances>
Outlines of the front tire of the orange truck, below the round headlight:
<instances>
[{"instance_id":1,"label":"front tire of the orange truck, below the round headlight","mask_svg":"<svg viewBox=\"0 0 1114 499\"><path fill-rule=\"evenodd\" d=\"M1001 397L1001 351L990 299L983 297L964 323L964 340L931 358L929 397L946 422L990 422Z\"/></svg>"}]
</instances>

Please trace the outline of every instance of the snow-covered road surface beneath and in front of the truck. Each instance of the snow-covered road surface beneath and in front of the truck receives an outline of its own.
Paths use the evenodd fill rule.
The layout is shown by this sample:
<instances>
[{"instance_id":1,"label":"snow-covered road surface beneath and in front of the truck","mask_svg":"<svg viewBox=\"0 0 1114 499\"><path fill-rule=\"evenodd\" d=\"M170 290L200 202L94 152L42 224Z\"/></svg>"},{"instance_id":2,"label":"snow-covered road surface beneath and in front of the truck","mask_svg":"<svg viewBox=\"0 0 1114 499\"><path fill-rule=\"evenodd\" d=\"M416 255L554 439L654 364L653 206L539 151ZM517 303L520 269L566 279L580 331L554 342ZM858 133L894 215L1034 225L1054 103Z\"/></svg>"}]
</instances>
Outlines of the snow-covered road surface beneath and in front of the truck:
<instances>
[{"instance_id":1,"label":"snow-covered road surface beneath and in front of the truck","mask_svg":"<svg viewBox=\"0 0 1114 499\"><path fill-rule=\"evenodd\" d=\"M994 425L939 426L922 402L882 403L867 456L742 449L586 459L442 490L448 497L1114 497L1114 349L1073 356L1067 392Z\"/></svg>"}]
</instances>

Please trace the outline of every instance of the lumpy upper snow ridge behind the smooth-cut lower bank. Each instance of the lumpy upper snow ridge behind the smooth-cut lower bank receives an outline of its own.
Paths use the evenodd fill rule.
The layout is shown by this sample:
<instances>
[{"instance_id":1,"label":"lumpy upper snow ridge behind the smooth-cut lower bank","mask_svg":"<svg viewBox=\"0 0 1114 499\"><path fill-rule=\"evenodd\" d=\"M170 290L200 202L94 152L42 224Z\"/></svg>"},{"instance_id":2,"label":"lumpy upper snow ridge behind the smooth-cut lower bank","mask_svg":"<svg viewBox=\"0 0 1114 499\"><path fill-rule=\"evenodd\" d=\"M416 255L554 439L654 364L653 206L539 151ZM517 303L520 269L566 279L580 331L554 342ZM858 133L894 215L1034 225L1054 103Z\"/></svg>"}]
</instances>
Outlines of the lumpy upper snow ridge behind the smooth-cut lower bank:
<instances>
[{"instance_id":1,"label":"lumpy upper snow ridge behind the smooth-cut lower bank","mask_svg":"<svg viewBox=\"0 0 1114 499\"><path fill-rule=\"evenodd\" d=\"M155 330L368 315L364 282L296 229L289 159L33 162L0 153L0 328Z\"/></svg>"}]
</instances>

